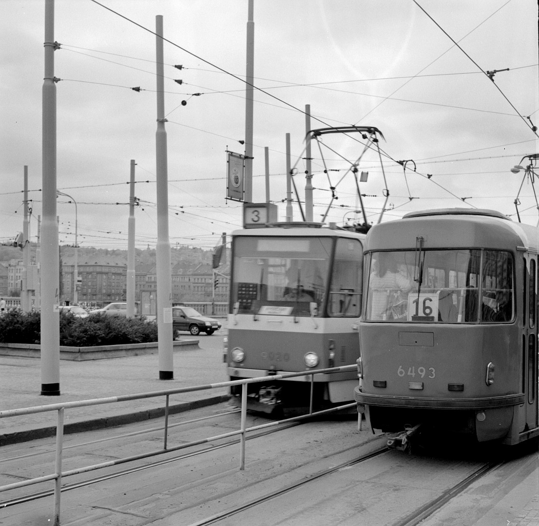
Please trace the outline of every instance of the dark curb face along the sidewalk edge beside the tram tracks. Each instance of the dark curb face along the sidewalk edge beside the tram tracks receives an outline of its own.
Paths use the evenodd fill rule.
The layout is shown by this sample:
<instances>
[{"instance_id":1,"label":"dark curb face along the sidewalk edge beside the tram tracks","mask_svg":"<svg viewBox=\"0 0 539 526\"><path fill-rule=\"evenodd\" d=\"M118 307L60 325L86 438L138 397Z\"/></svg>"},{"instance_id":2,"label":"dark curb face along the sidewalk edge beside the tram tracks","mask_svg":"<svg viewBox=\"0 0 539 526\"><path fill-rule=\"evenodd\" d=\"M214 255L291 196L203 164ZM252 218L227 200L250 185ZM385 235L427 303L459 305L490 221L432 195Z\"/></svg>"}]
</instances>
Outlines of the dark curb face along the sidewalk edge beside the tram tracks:
<instances>
[{"instance_id":1,"label":"dark curb face along the sidewalk edge beside the tram tracks","mask_svg":"<svg viewBox=\"0 0 539 526\"><path fill-rule=\"evenodd\" d=\"M199 407L207 407L209 405L220 404L227 402L230 395L221 395L211 398L203 398L201 400L192 400L192 402L183 402L181 404L169 405L169 414L183 413ZM107 427L116 427L134 422L142 422L153 418L164 417L165 408L155 407L144 411L136 411L134 413L118 414L111 417L95 418L92 420L83 420L81 422L73 422L64 425L64 434L79 433L85 431L94 431L105 429ZM19 444L20 442L29 442L39 438L47 438L56 436L56 426L41 427L38 429L27 431L16 431L0 435L0 447L9 444Z\"/></svg>"}]
</instances>

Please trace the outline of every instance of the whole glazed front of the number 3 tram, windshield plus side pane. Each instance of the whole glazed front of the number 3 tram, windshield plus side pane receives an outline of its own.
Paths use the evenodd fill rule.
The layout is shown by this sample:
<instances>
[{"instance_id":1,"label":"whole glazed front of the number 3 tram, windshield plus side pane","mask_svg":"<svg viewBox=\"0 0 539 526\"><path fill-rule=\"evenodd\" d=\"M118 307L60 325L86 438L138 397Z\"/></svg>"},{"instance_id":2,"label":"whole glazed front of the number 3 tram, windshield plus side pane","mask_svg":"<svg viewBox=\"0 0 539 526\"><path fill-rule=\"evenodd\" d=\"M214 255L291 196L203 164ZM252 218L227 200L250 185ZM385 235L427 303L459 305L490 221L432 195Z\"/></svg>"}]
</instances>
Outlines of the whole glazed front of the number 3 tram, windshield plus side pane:
<instances>
[{"instance_id":1,"label":"whole glazed front of the number 3 tram, windshield plus side pane","mask_svg":"<svg viewBox=\"0 0 539 526\"><path fill-rule=\"evenodd\" d=\"M359 316L358 240L237 237L232 251L231 300L239 314Z\"/></svg>"}]
</instances>

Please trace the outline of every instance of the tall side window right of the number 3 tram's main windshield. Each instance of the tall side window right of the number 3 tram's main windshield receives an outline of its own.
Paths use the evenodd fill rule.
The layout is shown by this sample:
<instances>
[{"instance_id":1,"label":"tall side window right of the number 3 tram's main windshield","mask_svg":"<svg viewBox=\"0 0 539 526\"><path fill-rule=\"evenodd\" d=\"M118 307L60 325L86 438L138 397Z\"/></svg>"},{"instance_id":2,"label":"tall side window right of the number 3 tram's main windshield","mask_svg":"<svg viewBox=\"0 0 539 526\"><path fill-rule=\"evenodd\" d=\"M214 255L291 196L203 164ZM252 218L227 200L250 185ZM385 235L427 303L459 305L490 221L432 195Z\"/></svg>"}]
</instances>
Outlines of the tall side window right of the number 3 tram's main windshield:
<instances>
[{"instance_id":1,"label":"tall side window right of the number 3 tram's main windshield","mask_svg":"<svg viewBox=\"0 0 539 526\"><path fill-rule=\"evenodd\" d=\"M361 314L363 248L355 239L338 239L329 288L330 316Z\"/></svg>"}]
</instances>

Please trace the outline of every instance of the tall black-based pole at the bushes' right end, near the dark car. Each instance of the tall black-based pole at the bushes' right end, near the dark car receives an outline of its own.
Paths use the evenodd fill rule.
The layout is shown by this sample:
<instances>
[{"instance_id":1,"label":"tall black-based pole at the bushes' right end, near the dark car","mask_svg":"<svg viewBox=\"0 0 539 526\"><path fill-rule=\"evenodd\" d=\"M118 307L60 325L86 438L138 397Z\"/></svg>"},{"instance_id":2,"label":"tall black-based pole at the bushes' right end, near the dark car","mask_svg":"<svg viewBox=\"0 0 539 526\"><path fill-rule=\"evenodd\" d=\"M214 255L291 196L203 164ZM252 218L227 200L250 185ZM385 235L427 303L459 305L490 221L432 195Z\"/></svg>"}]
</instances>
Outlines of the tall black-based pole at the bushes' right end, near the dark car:
<instances>
[{"instance_id":1,"label":"tall black-based pole at the bushes' right end, near the dark car","mask_svg":"<svg viewBox=\"0 0 539 526\"><path fill-rule=\"evenodd\" d=\"M163 16L155 17L157 66L157 131L155 133L157 164L157 340L159 379L174 378L172 356L172 283L170 272L170 240L168 232L167 132L165 130Z\"/></svg>"}]
</instances>

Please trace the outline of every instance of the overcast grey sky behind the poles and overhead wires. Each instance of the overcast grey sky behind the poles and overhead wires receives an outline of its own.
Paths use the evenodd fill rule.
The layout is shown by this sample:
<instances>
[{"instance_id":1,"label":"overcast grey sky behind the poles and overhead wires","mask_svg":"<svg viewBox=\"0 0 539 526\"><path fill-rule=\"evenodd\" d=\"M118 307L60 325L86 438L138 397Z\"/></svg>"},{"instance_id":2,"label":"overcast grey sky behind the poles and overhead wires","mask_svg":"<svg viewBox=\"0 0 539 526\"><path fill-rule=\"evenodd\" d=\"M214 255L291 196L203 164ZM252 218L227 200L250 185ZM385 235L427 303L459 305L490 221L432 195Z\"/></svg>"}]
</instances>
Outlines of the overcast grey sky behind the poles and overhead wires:
<instances>
[{"instance_id":1,"label":"overcast grey sky behind the poles and overhead wires","mask_svg":"<svg viewBox=\"0 0 539 526\"><path fill-rule=\"evenodd\" d=\"M61 79L57 188L78 203L79 244L127 248L134 159L136 245L155 246L152 32L162 15L164 37L174 43L164 43L170 243L211 248L242 222L241 204L226 200L226 150L244 153L238 141L245 137L240 79L247 0L100 3L119 14L91 0L55 2L54 39L61 44L54 53L54 74ZM0 0L2 243L23 229L24 165L32 241L42 213L44 12L44 0ZM369 171L361 192L370 222L378 220L384 188L390 196L384 221L412 210L459 206L494 209L517 220L514 202L523 183L521 219L537 224L530 179L510 172L524 155L539 151L531 130L532 122L539 126L536 0L254 0L254 40L254 84L261 91L254 94L253 201L266 200L268 147L269 198L278 204L280 220L286 212L287 133L304 197L302 111L310 105L312 128L356 124L383 133L386 182L375 150L359 164ZM485 74L506 68L493 81ZM338 199L326 222L361 219L354 179L345 175L347 160L363 150L355 139L361 137L323 137L328 174L313 143L315 220L328 210L330 186ZM397 161L409 161L406 171ZM60 196L57 204L62 244L74 243L75 207L68 201ZM294 219L300 219L297 205Z\"/></svg>"}]
</instances>

